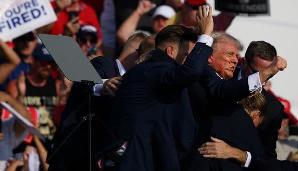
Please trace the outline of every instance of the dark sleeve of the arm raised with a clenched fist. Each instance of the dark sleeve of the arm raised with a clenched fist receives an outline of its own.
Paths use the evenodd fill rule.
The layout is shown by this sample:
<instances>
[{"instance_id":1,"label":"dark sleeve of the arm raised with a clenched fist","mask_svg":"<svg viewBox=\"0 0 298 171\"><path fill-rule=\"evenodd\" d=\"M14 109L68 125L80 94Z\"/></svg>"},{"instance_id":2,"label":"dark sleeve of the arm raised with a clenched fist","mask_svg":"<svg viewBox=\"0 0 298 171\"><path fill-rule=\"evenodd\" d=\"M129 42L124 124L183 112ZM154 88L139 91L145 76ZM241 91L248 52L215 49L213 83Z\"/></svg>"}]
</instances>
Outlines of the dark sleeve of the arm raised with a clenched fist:
<instances>
[{"instance_id":1,"label":"dark sleeve of the arm raised with a clenched fist","mask_svg":"<svg viewBox=\"0 0 298 171\"><path fill-rule=\"evenodd\" d=\"M206 94L216 100L238 101L250 94L248 77L240 80L224 80L216 75L215 71L206 65L200 83Z\"/></svg>"}]
</instances>

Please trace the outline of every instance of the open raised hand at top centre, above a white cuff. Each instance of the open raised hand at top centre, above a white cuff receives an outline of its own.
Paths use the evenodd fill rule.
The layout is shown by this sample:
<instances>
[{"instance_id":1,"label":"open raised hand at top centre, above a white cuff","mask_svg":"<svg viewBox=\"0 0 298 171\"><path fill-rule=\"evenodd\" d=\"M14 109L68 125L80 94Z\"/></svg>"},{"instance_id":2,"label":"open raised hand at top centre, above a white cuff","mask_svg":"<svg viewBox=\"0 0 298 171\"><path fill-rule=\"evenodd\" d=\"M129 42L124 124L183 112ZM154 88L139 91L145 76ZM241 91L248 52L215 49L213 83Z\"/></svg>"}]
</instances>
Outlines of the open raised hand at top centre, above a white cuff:
<instances>
[{"instance_id":1,"label":"open raised hand at top centre, above a white cuff","mask_svg":"<svg viewBox=\"0 0 298 171\"><path fill-rule=\"evenodd\" d=\"M200 6L196 15L196 20L198 24L197 28L195 29L197 31L197 34L205 34L211 36L211 33L213 31L212 8L209 7L209 12L207 16L206 6Z\"/></svg>"}]
</instances>

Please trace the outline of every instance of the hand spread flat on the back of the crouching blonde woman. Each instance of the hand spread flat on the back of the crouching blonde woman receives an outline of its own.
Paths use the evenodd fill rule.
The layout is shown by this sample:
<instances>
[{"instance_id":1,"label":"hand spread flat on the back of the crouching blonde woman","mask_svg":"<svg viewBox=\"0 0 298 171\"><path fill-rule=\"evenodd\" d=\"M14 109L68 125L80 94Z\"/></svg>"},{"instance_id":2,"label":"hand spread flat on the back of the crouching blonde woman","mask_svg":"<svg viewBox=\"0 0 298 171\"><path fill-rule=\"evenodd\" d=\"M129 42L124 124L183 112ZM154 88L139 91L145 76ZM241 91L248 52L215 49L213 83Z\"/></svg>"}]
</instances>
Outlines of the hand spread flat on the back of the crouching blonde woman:
<instances>
[{"instance_id":1,"label":"hand spread flat on the back of the crouching blonde woman","mask_svg":"<svg viewBox=\"0 0 298 171\"><path fill-rule=\"evenodd\" d=\"M224 141L211 137L213 142L206 142L198 149L206 158L233 158L244 165L247 158L246 151L231 147Z\"/></svg>"}]
</instances>

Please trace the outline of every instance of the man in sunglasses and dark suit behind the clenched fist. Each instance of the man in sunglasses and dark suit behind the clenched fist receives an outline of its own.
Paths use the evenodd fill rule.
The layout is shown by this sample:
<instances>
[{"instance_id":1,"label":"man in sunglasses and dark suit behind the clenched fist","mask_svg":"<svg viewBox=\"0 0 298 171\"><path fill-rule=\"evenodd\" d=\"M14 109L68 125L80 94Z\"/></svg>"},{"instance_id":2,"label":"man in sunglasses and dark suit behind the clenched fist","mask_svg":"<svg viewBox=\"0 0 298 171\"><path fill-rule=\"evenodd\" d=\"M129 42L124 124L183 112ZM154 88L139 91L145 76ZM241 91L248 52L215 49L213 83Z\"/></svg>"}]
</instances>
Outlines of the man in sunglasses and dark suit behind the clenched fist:
<instances>
[{"instance_id":1,"label":"man in sunglasses and dark suit behind the clenched fist","mask_svg":"<svg viewBox=\"0 0 298 171\"><path fill-rule=\"evenodd\" d=\"M276 49L267 42L251 42L246 50L245 57L241 59L241 67L237 67L234 72L234 79L241 79L251 74L257 73L276 62ZM262 86L266 84L266 80ZM276 158L276 141L278 130L282 121L283 105L265 89L261 90L268 103L268 114L263 122L257 127L259 138L267 156Z\"/></svg>"}]
</instances>

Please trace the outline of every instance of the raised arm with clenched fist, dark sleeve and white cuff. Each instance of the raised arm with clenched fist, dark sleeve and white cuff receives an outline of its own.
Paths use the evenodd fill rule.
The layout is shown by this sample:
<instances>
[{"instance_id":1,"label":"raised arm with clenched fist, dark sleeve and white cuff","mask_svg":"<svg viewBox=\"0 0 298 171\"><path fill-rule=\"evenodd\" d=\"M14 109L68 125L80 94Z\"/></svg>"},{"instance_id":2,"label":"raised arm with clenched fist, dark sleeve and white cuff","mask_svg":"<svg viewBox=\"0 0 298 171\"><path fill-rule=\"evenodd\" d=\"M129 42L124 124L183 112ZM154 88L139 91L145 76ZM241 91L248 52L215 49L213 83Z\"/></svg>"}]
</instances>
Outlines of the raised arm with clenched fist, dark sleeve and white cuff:
<instances>
[{"instance_id":1,"label":"raised arm with clenched fist, dark sleeve and white cuff","mask_svg":"<svg viewBox=\"0 0 298 171\"><path fill-rule=\"evenodd\" d=\"M263 82L273 77L279 71L283 71L286 65L286 60L278 56L264 70L254 73L249 77L233 81L221 79L210 66L206 65L204 74L200 77L200 83L212 98L238 101L250 93L260 90ZM249 85L252 85L252 87Z\"/></svg>"}]
</instances>

